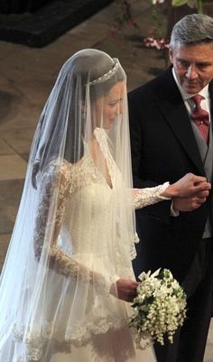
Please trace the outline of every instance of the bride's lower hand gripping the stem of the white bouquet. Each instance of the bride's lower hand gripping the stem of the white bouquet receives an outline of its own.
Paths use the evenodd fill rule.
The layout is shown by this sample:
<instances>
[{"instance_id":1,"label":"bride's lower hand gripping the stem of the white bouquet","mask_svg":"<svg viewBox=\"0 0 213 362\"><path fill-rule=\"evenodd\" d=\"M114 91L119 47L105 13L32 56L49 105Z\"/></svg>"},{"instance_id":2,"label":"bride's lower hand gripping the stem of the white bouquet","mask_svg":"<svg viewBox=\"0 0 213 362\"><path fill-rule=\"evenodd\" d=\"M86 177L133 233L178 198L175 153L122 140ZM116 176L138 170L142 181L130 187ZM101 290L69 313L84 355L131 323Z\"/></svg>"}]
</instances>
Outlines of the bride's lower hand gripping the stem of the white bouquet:
<instances>
[{"instance_id":1,"label":"bride's lower hand gripping the stem of the white bouquet","mask_svg":"<svg viewBox=\"0 0 213 362\"><path fill-rule=\"evenodd\" d=\"M138 283L132 279L121 278L116 281L116 285L112 285L110 293L125 302L133 302L136 296L137 285Z\"/></svg>"}]
</instances>

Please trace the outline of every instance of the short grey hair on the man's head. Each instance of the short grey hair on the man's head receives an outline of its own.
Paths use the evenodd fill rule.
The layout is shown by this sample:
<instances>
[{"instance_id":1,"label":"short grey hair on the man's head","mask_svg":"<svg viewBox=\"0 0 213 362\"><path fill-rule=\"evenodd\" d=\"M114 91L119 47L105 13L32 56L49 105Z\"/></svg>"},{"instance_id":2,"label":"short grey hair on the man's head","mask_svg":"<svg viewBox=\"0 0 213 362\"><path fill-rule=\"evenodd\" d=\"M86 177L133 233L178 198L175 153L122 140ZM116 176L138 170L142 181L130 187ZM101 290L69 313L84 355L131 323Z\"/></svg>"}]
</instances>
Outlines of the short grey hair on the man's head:
<instances>
[{"instance_id":1,"label":"short grey hair on the man's head","mask_svg":"<svg viewBox=\"0 0 213 362\"><path fill-rule=\"evenodd\" d=\"M171 32L171 48L199 42L213 42L213 18L205 14L190 14L176 23Z\"/></svg>"}]
</instances>

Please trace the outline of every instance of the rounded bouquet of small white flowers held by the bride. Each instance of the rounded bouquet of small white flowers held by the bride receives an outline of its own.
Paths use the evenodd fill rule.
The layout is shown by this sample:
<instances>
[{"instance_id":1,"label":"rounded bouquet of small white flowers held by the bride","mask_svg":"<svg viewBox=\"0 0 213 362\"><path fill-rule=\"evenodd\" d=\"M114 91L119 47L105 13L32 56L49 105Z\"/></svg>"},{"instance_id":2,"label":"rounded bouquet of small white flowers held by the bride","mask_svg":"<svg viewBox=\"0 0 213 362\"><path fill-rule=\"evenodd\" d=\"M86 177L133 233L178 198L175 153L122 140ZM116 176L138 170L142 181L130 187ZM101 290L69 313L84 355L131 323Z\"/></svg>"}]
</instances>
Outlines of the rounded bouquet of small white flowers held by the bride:
<instances>
[{"instance_id":1,"label":"rounded bouquet of small white flowers held by the bride","mask_svg":"<svg viewBox=\"0 0 213 362\"><path fill-rule=\"evenodd\" d=\"M155 340L163 345L164 336L172 343L186 317L185 292L168 269L142 273L139 278L129 321L137 348L144 349Z\"/></svg>"}]
</instances>

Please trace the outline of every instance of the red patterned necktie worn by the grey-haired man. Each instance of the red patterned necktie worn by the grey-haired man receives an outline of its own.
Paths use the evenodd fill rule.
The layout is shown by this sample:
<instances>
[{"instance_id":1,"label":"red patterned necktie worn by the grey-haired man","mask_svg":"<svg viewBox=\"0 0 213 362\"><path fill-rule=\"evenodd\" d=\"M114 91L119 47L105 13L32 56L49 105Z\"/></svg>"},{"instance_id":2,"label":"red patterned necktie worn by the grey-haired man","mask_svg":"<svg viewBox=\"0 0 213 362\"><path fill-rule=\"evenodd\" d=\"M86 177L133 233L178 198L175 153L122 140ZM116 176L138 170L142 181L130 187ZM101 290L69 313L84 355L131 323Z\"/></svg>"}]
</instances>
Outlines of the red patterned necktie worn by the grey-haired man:
<instances>
[{"instance_id":1,"label":"red patterned necktie worn by the grey-haired man","mask_svg":"<svg viewBox=\"0 0 213 362\"><path fill-rule=\"evenodd\" d=\"M209 131L209 116L208 112L201 108L200 102L203 99L200 94L196 94L191 97L195 104L194 110L191 112L190 117L199 128L199 132L202 135L205 142L208 144L208 131Z\"/></svg>"}]
</instances>

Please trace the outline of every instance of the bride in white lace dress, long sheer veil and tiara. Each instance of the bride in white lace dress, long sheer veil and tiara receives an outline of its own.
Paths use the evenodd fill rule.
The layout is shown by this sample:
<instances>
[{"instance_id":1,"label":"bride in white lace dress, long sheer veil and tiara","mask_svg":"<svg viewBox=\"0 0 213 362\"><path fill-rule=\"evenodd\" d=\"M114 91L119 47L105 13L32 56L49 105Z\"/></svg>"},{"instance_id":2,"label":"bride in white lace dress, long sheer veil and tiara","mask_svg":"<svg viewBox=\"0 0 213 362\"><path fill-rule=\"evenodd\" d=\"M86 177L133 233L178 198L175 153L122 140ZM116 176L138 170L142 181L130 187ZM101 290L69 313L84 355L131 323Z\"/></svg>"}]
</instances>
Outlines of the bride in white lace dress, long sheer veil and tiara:
<instances>
[{"instance_id":1,"label":"bride in white lace dress, long sheer veil and tiara","mask_svg":"<svg viewBox=\"0 0 213 362\"><path fill-rule=\"evenodd\" d=\"M154 362L128 328L134 209L207 187L133 190L125 72L105 52L63 65L32 142L0 284L0 360Z\"/></svg>"}]
</instances>

